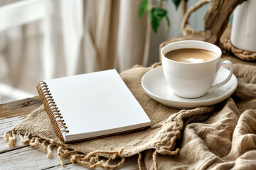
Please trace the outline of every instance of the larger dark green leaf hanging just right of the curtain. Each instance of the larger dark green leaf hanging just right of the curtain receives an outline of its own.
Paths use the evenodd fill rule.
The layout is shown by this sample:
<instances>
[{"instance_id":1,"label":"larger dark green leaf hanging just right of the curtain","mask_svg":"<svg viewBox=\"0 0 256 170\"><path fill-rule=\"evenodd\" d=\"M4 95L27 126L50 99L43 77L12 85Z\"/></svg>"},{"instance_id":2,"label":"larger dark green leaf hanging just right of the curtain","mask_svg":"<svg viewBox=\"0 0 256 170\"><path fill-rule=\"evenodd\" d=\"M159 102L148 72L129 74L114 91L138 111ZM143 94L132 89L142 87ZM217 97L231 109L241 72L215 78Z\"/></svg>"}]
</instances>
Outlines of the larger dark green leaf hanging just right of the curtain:
<instances>
[{"instance_id":1,"label":"larger dark green leaf hanging just right of the curtain","mask_svg":"<svg viewBox=\"0 0 256 170\"><path fill-rule=\"evenodd\" d=\"M160 26L161 20L164 17L167 17L167 11L164 8L153 7L149 11L149 19L151 21L151 26L154 30L154 33L157 33L157 30ZM167 25L168 25L168 23L167 23Z\"/></svg>"}]
</instances>

